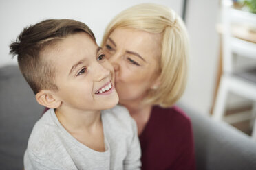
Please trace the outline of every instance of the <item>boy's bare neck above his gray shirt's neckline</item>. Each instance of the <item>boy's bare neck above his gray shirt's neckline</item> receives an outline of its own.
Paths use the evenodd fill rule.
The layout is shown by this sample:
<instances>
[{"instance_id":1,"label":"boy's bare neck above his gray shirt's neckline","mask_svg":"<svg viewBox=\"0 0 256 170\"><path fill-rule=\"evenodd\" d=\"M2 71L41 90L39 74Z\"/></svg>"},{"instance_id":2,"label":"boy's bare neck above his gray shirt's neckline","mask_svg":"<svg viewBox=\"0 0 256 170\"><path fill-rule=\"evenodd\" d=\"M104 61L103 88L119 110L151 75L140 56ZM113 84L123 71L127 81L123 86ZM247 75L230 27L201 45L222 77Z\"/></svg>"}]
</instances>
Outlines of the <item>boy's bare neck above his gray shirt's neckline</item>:
<instances>
[{"instance_id":1,"label":"boy's bare neck above his gray shirt's neckline","mask_svg":"<svg viewBox=\"0 0 256 170\"><path fill-rule=\"evenodd\" d=\"M105 151L103 123L100 110L78 111L67 108L55 110L61 125L77 141L95 151Z\"/></svg>"}]
</instances>

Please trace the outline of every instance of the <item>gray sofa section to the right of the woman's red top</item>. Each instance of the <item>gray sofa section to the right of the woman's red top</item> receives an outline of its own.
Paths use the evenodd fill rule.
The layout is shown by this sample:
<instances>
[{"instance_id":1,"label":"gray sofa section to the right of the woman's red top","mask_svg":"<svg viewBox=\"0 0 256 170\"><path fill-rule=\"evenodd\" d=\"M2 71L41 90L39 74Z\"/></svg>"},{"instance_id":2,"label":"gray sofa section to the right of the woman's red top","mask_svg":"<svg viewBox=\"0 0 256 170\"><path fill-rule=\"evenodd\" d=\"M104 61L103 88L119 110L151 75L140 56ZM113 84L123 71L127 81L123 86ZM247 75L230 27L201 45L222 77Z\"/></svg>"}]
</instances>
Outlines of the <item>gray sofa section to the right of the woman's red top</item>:
<instances>
[{"instance_id":1,"label":"gray sofa section to the right of the woman's red top","mask_svg":"<svg viewBox=\"0 0 256 170\"><path fill-rule=\"evenodd\" d=\"M179 106L193 125L198 170L256 169L256 142L228 123Z\"/></svg>"}]
</instances>

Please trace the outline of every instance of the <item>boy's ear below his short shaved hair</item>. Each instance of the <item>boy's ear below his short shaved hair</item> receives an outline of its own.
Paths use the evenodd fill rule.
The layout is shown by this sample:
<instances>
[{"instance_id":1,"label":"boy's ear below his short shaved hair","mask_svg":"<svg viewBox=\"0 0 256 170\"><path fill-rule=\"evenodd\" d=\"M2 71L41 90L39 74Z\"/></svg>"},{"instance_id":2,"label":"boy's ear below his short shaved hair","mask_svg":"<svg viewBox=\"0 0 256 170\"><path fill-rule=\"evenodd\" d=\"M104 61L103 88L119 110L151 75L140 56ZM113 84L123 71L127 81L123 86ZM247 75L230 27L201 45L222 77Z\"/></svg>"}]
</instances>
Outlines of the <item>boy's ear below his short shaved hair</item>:
<instances>
[{"instance_id":1,"label":"boy's ear below his short shaved hair","mask_svg":"<svg viewBox=\"0 0 256 170\"><path fill-rule=\"evenodd\" d=\"M36 93L36 101L47 108L58 108L61 101L50 90L41 90Z\"/></svg>"}]
</instances>

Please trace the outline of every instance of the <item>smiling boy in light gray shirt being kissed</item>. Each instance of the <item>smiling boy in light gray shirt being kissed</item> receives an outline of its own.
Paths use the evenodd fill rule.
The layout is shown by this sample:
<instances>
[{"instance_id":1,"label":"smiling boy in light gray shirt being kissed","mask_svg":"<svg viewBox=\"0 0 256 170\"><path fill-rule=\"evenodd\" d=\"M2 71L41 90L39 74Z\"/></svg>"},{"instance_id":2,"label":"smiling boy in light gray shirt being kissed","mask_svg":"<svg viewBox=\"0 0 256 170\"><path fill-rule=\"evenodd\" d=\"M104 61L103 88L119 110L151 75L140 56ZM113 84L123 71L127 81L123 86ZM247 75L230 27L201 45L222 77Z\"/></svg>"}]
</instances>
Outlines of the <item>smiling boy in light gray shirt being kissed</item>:
<instances>
[{"instance_id":1,"label":"smiling boy in light gray shirt being kissed","mask_svg":"<svg viewBox=\"0 0 256 170\"><path fill-rule=\"evenodd\" d=\"M50 108L30 134L25 170L140 168L136 123L116 106L114 69L87 25L42 21L23 29L10 53Z\"/></svg>"}]
</instances>

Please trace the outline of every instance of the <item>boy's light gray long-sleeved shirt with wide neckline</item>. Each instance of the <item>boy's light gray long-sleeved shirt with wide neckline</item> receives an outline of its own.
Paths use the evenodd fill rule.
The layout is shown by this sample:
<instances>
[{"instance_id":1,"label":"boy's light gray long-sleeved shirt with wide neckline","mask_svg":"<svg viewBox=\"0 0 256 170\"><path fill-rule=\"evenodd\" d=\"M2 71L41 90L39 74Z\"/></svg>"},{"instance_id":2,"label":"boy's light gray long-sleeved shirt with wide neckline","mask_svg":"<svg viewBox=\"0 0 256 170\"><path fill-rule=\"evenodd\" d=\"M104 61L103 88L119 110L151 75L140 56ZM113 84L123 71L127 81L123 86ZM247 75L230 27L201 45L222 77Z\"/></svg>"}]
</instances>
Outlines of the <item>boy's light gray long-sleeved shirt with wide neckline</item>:
<instances>
[{"instance_id":1,"label":"boy's light gray long-sleeved shirt with wide neckline","mask_svg":"<svg viewBox=\"0 0 256 170\"><path fill-rule=\"evenodd\" d=\"M53 109L34 125L24 155L30 169L140 169L135 121L122 106L101 112L105 151L83 145L61 125Z\"/></svg>"}]
</instances>

